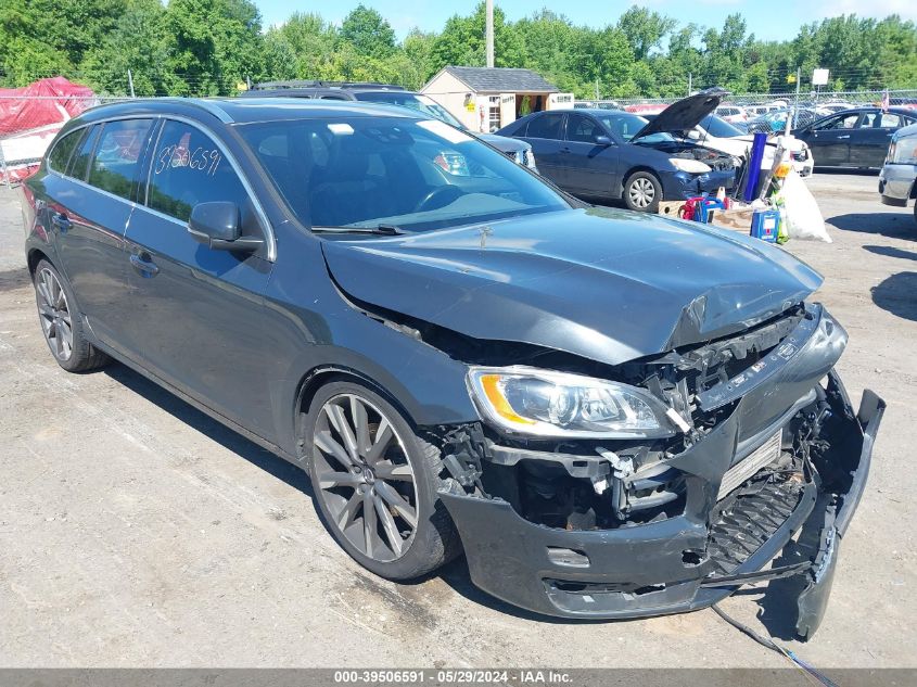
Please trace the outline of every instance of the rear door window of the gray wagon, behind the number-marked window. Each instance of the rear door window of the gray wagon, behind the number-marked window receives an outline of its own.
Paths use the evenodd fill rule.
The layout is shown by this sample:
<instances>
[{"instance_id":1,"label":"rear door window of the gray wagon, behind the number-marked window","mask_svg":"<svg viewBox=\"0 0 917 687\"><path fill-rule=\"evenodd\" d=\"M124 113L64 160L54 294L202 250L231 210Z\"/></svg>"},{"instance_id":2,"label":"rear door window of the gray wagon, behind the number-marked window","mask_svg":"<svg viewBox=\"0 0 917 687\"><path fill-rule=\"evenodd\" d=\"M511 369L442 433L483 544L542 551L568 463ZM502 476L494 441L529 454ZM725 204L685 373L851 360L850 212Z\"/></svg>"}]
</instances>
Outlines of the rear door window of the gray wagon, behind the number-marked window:
<instances>
[{"instance_id":1,"label":"rear door window of the gray wagon, behind the number-marked window","mask_svg":"<svg viewBox=\"0 0 917 687\"><path fill-rule=\"evenodd\" d=\"M140 155L152 124L152 119L125 119L103 125L89 166L89 183L130 200Z\"/></svg>"}]
</instances>

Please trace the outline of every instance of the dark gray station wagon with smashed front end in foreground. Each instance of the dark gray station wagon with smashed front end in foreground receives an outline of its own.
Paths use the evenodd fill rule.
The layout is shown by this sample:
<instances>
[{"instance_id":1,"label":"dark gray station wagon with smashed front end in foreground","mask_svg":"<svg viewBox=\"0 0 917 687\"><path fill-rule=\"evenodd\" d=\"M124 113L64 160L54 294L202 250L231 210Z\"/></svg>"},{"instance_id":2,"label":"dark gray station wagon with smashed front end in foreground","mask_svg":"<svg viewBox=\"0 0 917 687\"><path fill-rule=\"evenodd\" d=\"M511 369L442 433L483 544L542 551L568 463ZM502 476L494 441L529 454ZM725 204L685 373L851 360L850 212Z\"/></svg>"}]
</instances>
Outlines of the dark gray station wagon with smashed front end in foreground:
<instances>
[{"instance_id":1,"label":"dark gray station wagon with smashed front end in foreground","mask_svg":"<svg viewBox=\"0 0 917 687\"><path fill-rule=\"evenodd\" d=\"M489 594L591 619L803 575L817 627L884 404L851 407L846 333L782 250L358 103L93 109L23 190L58 362L120 360L301 466L372 572L463 551Z\"/></svg>"}]
</instances>

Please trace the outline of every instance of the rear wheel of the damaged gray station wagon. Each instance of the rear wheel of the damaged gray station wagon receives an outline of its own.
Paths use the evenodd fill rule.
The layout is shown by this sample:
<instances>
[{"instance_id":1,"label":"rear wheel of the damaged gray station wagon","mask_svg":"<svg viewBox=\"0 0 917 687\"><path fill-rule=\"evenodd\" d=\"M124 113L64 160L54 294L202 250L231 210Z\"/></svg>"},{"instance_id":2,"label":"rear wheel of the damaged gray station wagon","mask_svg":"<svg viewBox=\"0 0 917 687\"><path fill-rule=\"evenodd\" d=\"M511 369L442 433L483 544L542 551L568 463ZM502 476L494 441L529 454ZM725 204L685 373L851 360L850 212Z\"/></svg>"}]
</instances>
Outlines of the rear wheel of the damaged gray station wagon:
<instances>
[{"instance_id":1,"label":"rear wheel of the damaged gray station wagon","mask_svg":"<svg viewBox=\"0 0 917 687\"><path fill-rule=\"evenodd\" d=\"M102 367L109 356L89 343L76 297L67 280L47 259L39 260L33 276L38 319L51 354L67 372Z\"/></svg>"}]
</instances>

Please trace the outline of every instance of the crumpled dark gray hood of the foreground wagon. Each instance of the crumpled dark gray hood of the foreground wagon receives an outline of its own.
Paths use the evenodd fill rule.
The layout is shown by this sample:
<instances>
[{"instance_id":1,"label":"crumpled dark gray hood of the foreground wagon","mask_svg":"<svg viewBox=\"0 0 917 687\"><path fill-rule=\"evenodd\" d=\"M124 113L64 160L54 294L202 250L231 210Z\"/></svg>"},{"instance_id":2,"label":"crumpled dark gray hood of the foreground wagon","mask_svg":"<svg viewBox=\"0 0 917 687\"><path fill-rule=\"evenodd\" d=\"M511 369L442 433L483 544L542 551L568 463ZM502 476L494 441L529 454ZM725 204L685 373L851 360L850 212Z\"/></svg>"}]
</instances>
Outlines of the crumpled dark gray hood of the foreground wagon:
<instances>
[{"instance_id":1,"label":"crumpled dark gray hood of the foreground wagon","mask_svg":"<svg viewBox=\"0 0 917 687\"><path fill-rule=\"evenodd\" d=\"M738 332L822 283L757 239L608 208L322 249L339 287L364 303L609 365Z\"/></svg>"}]
</instances>

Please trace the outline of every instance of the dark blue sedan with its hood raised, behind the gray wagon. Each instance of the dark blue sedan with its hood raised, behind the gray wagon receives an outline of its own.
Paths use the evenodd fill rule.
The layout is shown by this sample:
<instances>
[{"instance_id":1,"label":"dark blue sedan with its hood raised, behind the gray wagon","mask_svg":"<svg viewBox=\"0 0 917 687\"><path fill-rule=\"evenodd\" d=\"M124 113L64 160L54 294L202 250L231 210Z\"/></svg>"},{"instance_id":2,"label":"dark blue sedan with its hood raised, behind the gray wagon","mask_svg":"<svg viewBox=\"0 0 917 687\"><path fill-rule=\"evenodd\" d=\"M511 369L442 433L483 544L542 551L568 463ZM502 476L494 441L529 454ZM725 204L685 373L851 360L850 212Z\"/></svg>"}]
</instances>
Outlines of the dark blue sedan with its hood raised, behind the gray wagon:
<instances>
[{"instance_id":1,"label":"dark blue sedan with its hood raised, behind the gray wagon","mask_svg":"<svg viewBox=\"0 0 917 687\"><path fill-rule=\"evenodd\" d=\"M734 186L731 155L671 133L690 129L718 102L718 94L692 96L652 122L604 110L537 112L498 133L530 143L542 174L574 195L655 212L662 200Z\"/></svg>"}]
</instances>

